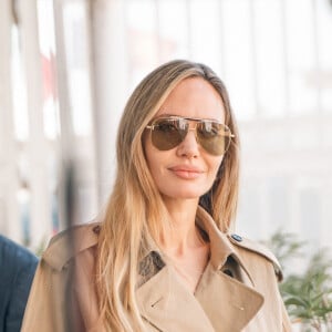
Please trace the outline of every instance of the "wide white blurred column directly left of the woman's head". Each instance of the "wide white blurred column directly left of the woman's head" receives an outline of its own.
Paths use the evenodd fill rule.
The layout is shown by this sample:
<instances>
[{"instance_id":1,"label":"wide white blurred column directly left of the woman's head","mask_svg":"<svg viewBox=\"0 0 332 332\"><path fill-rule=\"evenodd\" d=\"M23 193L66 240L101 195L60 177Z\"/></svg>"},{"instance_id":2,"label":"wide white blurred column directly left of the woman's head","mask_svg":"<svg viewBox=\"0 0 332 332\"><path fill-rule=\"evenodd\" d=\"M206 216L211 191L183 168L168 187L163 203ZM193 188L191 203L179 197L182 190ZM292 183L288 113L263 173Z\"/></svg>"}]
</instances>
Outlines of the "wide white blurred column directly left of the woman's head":
<instances>
[{"instance_id":1,"label":"wide white blurred column directly left of the woman's head","mask_svg":"<svg viewBox=\"0 0 332 332\"><path fill-rule=\"evenodd\" d=\"M124 2L91 1L100 204L105 201L112 188L117 125L128 91Z\"/></svg>"}]
</instances>

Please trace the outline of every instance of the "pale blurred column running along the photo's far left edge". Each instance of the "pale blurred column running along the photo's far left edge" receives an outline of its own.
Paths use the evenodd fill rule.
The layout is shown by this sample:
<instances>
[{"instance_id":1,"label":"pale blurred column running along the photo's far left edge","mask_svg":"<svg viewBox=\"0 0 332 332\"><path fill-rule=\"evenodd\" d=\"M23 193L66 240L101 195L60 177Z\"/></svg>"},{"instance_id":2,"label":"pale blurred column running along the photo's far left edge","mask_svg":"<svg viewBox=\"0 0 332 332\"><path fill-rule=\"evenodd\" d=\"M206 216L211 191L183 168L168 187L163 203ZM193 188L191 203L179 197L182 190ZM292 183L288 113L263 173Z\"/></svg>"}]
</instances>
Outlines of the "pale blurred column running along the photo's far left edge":
<instances>
[{"instance_id":1,"label":"pale blurred column running along the photo's far left edge","mask_svg":"<svg viewBox=\"0 0 332 332\"><path fill-rule=\"evenodd\" d=\"M0 232L21 239L18 212L17 145L11 100L11 1L0 1Z\"/></svg>"}]
</instances>

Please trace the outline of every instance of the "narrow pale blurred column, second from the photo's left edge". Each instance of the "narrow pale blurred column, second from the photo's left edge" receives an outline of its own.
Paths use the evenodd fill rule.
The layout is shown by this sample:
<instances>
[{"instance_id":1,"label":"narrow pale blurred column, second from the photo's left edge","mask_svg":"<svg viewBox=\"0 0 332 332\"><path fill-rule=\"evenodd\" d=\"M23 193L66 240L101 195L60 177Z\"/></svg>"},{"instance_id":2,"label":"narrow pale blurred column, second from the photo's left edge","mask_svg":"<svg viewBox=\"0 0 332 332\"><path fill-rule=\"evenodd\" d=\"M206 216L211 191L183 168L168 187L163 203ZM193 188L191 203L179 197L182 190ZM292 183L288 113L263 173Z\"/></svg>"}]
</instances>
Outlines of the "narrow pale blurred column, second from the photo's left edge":
<instances>
[{"instance_id":1,"label":"narrow pale blurred column, second from the photo's left edge","mask_svg":"<svg viewBox=\"0 0 332 332\"><path fill-rule=\"evenodd\" d=\"M39 48L37 0L19 1L22 56L27 81L30 135L31 232L33 246L51 235L48 147L43 132L41 54Z\"/></svg>"}]
</instances>

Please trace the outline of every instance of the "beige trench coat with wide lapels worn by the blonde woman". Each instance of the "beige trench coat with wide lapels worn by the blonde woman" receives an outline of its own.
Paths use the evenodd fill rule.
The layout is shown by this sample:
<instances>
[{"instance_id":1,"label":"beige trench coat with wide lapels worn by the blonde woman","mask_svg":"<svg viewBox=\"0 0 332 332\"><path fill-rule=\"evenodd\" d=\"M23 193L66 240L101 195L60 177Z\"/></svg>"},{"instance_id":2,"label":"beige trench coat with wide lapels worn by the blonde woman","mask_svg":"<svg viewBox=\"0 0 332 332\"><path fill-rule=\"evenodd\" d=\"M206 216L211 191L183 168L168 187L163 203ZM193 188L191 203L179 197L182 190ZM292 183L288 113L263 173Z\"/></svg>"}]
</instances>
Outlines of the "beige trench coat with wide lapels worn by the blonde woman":
<instances>
[{"instance_id":1,"label":"beige trench coat with wide lapels worn by the blonde woman","mask_svg":"<svg viewBox=\"0 0 332 332\"><path fill-rule=\"evenodd\" d=\"M273 255L239 236L220 232L200 208L197 220L209 236L211 253L195 294L157 250L147 252L139 264L136 298L146 330L291 331L278 290L277 278L282 276ZM23 332L102 331L94 288L98 227L79 226L53 238L33 281ZM73 267L76 279L70 278ZM72 322L75 328L69 325Z\"/></svg>"}]
</instances>

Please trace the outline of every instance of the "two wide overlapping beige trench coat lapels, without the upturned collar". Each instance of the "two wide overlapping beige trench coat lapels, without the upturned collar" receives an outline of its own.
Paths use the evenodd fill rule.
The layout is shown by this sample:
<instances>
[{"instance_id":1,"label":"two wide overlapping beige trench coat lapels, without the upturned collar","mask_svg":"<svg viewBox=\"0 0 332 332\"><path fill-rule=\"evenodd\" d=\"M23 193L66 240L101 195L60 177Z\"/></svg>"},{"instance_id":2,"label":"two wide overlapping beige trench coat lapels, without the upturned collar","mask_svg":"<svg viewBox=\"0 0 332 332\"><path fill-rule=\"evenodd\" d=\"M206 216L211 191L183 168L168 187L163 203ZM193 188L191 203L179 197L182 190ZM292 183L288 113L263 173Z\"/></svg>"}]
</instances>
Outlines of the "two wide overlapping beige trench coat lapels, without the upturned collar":
<instances>
[{"instance_id":1,"label":"two wide overlapping beige trench coat lapels, without the upturned collar","mask_svg":"<svg viewBox=\"0 0 332 332\"><path fill-rule=\"evenodd\" d=\"M195 295L165 266L136 291L141 314L163 332L241 331L263 303L260 293L208 264Z\"/></svg>"}]
</instances>

